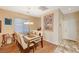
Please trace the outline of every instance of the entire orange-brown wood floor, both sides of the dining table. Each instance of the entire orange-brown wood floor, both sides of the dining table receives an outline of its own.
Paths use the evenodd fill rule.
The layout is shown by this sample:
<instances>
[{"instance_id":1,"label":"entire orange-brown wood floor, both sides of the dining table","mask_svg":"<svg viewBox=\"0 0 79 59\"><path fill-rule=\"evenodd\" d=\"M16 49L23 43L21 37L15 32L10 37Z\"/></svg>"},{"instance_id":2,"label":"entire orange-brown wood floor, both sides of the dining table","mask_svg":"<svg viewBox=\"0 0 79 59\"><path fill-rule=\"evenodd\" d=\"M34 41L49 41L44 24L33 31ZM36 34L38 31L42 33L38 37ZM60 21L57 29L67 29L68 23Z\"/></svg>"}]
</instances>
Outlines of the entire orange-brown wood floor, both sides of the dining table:
<instances>
[{"instance_id":1,"label":"entire orange-brown wood floor, both sides of the dining table","mask_svg":"<svg viewBox=\"0 0 79 59\"><path fill-rule=\"evenodd\" d=\"M39 43L34 53L53 53L56 47L56 45L44 41L44 47L41 48ZM13 43L10 46L0 47L0 53L20 53L20 51L18 46L15 43ZM31 50L30 53L33 53L33 51Z\"/></svg>"}]
</instances>

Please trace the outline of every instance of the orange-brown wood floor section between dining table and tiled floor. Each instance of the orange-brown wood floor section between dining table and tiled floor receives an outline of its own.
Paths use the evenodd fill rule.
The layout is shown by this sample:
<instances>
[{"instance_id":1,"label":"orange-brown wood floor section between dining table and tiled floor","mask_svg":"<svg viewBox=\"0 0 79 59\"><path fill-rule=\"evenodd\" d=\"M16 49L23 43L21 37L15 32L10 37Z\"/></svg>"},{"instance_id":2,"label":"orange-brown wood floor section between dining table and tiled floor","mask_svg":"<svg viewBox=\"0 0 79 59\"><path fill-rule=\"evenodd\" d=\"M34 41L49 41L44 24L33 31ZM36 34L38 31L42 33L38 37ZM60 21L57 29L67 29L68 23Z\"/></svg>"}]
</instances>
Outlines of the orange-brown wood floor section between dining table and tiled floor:
<instances>
[{"instance_id":1,"label":"orange-brown wood floor section between dining table and tiled floor","mask_svg":"<svg viewBox=\"0 0 79 59\"><path fill-rule=\"evenodd\" d=\"M37 47L37 49L35 50L35 53L53 53L53 51L55 50L57 46L54 44L51 44L47 41L44 41L44 47L41 48L40 44Z\"/></svg>"}]
</instances>

